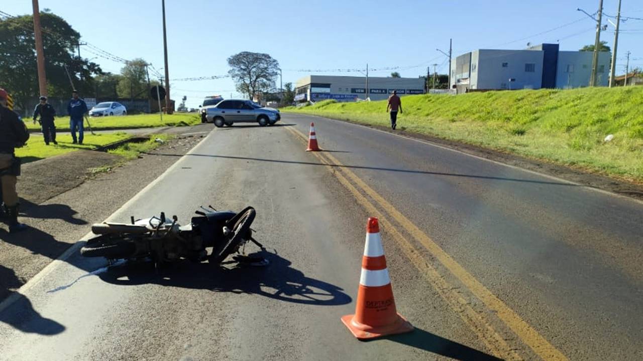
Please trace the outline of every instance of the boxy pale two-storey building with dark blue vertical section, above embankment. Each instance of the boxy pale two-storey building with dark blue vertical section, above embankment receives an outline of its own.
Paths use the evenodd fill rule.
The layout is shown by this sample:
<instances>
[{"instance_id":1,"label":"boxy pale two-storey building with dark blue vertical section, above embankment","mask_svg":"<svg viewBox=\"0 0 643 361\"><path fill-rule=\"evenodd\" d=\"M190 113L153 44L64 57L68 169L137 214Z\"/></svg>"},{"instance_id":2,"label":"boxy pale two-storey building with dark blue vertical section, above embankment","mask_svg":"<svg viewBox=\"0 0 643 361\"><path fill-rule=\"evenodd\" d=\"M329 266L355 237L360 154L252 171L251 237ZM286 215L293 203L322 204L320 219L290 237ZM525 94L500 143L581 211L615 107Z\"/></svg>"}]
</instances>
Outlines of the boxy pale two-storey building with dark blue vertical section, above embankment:
<instances>
[{"instance_id":1,"label":"boxy pale two-storey building with dark blue vertical section, above embankment","mask_svg":"<svg viewBox=\"0 0 643 361\"><path fill-rule=\"evenodd\" d=\"M592 51L559 51L558 44L524 50L478 49L451 61L450 88L465 92L586 87L590 84L592 57ZM599 52L599 86L608 85L610 61L610 52Z\"/></svg>"}]
</instances>

